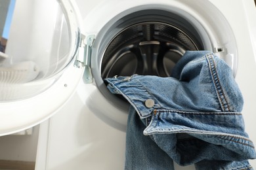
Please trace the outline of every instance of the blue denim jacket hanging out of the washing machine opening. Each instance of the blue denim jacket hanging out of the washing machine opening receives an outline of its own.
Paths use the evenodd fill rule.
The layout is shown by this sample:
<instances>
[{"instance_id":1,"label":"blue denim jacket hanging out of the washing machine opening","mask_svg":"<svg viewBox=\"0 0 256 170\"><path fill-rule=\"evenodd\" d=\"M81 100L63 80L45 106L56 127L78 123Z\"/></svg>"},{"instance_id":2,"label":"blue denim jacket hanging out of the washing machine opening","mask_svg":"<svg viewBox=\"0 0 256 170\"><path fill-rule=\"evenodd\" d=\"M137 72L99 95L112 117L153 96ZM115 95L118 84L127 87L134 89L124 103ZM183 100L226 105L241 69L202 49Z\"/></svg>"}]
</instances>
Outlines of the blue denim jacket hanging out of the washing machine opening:
<instances>
[{"instance_id":1,"label":"blue denim jacket hanging out of the washing machine opening","mask_svg":"<svg viewBox=\"0 0 256 170\"><path fill-rule=\"evenodd\" d=\"M106 78L109 90L132 106L126 169L143 169L150 155L148 169L171 169L170 160L195 163L196 169L252 169L247 160L256 158L255 148L244 130L242 93L230 67L211 52L186 52L172 73Z\"/></svg>"}]
</instances>

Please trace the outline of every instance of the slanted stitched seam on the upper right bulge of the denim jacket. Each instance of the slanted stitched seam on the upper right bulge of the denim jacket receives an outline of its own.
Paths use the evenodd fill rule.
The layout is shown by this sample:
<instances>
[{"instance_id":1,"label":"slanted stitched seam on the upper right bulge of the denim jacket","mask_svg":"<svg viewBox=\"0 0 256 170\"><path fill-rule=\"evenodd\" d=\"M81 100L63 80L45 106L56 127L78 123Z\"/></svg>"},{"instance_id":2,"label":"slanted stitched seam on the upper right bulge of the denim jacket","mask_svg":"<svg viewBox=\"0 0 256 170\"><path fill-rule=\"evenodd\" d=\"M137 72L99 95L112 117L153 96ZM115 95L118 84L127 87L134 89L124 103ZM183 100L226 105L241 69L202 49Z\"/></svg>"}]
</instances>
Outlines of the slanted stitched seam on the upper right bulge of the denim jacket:
<instances>
[{"instance_id":1,"label":"slanted stitched seam on the upper right bulge of the denim jacket","mask_svg":"<svg viewBox=\"0 0 256 170\"><path fill-rule=\"evenodd\" d=\"M213 84L215 86L215 90L217 92L219 102L221 103L221 108L224 111L229 111L230 108L229 108L226 96L224 95L223 88L221 86L221 82L219 80L219 75L217 73L216 64L213 59L213 56L212 56L212 54L207 54L205 56L205 58L207 59L207 61L209 63L209 70L211 73L211 77L213 79Z\"/></svg>"}]
</instances>

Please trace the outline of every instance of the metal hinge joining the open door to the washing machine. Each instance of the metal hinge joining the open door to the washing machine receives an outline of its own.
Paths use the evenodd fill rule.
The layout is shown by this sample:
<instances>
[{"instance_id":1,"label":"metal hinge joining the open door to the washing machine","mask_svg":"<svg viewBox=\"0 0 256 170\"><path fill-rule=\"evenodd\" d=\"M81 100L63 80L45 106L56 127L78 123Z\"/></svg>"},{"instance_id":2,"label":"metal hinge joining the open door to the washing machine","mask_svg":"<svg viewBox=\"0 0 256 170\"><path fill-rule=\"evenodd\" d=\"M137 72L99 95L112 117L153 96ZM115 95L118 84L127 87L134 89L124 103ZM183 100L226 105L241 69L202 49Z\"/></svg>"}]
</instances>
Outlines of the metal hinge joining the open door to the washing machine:
<instances>
[{"instance_id":1,"label":"metal hinge joining the open door to the washing machine","mask_svg":"<svg viewBox=\"0 0 256 170\"><path fill-rule=\"evenodd\" d=\"M85 67L85 73L83 74L83 81L85 83L93 82L93 75L91 73L91 50L95 35L81 35L81 44L79 46L79 52L75 61L75 67Z\"/></svg>"}]
</instances>

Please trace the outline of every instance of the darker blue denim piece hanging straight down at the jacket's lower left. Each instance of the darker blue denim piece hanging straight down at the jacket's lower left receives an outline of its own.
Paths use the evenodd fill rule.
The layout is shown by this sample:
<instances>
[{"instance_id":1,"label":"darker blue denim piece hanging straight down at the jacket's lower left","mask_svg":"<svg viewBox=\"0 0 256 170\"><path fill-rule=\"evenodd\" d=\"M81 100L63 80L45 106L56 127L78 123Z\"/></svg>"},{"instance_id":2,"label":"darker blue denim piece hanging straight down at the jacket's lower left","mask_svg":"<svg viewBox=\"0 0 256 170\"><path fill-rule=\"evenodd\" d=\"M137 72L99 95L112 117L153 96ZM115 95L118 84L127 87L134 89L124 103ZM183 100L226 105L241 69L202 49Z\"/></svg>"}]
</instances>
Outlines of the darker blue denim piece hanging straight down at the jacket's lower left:
<instances>
[{"instance_id":1,"label":"darker blue denim piece hanging straight down at the jacket's lower left","mask_svg":"<svg viewBox=\"0 0 256 170\"><path fill-rule=\"evenodd\" d=\"M173 160L161 150L149 135L143 135L146 119L142 121L130 107L127 121L125 169L173 170Z\"/></svg>"}]
</instances>

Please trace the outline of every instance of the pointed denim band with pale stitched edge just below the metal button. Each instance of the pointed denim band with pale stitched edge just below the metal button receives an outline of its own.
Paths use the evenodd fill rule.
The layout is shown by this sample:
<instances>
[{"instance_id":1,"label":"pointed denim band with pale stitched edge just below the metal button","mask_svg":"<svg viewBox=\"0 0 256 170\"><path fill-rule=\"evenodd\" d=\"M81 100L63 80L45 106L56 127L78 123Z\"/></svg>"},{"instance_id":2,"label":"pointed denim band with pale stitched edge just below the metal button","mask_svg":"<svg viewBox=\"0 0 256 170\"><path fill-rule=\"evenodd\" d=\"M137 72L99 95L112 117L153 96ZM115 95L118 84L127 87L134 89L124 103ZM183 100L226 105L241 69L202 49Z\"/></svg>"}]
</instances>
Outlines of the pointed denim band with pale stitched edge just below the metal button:
<instances>
[{"instance_id":1,"label":"pointed denim band with pale stitched edge just below the metal button","mask_svg":"<svg viewBox=\"0 0 256 170\"><path fill-rule=\"evenodd\" d=\"M196 121L194 119L194 122L192 122L191 124L187 123L186 126L183 126L181 122L175 121L175 118L174 116L172 116L172 114L183 115L182 119L184 120L186 118L195 116L211 116L209 117L209 119L211 118L212 122L209 122L207 126L203 126L203 122ZM217 122L217 120L221 120L222 116L230 118L229 120L232 121L234 125L228 125L223 124L221 122ZM243 129L244 126L243 124L240 125L234 119L232 120L231 118L234 118L234 116L237 116L237 120L242 119L242 114L240 112L184 112L179 110L154 110L152 120L144 130L144 135L152 135L154 133L189 133L190 135L192 135L193 133L192 136L205 135L204 140L209 141L210 143L220 144L220 141L223 140L223 142L230 141L236 144L249 146L254 149L253 142L248 139L247 134L244 133L243 131L237 131L237 129ZM213 122L213 119L217 117L218 119L216 119L215 122ZM160 122L163 122L163 120L166 121L165 125L167 126L160 125ZM178 124L181 124L181 126L178 126ZM231 131L230 129L234 130ZM213 142L213 138L217 139L218 143ZM225 144L223 144L223 146L224 145Z\"/></svg>"}]
</instances>

